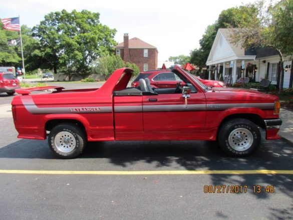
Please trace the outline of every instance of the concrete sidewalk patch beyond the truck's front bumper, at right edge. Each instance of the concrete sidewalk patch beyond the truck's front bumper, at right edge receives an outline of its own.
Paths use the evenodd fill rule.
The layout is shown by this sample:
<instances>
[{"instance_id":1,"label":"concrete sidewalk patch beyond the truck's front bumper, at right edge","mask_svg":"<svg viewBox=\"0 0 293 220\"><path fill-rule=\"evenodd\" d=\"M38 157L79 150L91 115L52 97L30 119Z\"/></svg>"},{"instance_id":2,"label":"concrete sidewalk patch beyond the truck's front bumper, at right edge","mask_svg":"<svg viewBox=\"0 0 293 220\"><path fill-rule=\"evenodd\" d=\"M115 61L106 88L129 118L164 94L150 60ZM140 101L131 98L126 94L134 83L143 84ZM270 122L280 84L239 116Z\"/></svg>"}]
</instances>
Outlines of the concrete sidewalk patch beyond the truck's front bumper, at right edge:
<instances>
[{"instance_id":1,"label":"concrete sidewalk patch beyond the truck's front bumper, at right edge","mask_svg":"<svg viewBox=\"0 0 293 220\"><path fill-rule=\"evenodd\" d=\"M280 119L282 125L278 134L293 143L293 111L281 108Z\"/></svg>"}]
</instances>

